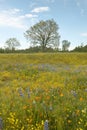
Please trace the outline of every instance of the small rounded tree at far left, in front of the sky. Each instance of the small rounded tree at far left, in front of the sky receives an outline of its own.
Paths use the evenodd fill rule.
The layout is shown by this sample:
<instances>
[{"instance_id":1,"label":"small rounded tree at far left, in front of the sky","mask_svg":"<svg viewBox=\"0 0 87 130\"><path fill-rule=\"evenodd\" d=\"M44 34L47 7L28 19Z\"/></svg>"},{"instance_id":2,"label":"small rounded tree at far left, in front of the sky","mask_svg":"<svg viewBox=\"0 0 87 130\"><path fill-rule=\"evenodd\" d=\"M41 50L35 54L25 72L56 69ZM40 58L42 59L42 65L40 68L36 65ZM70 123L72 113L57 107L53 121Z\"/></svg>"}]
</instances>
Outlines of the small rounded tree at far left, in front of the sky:
<instances>
[{"instance_id":1,"label":"small rounded tree at far left, in front of the sky","mask_svg":"<svg viewBox=\"0 0 87 130\"><path fill-rule=\"evenodd\" d=\"M20 42L16 38L9 38L6 42L6 49L15 50L16 47L20 46Z\"/></svg>"}]
</instances>

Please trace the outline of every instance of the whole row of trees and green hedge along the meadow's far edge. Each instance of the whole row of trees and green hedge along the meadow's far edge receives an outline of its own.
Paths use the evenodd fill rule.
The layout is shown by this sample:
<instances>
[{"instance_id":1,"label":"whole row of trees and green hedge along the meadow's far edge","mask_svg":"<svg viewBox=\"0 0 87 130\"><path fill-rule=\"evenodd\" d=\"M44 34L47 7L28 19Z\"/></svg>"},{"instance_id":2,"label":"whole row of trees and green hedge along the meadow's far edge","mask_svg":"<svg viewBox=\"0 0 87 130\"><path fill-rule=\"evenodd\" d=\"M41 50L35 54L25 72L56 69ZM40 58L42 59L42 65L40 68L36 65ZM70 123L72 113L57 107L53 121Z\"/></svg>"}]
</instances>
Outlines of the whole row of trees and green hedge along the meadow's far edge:
<instances>
[{"instance_id":1,"label":"whole row of trees and green hedge along the meadow's far edge","mask_svg":"<svg viewBox=\"0 0 87 130\"><path fill-rule=\"evenodd\" d=\"M21 46L20 42L16 38L9 38L5 42L5 48L1 48L0 52L67 52L71 43L68 40L63 40L60 50L61 36L58 31L59 26L53 19L41 20L24 32L24 37L30 44L28 49L17 49Z\"/></svg>"}]
</instances>

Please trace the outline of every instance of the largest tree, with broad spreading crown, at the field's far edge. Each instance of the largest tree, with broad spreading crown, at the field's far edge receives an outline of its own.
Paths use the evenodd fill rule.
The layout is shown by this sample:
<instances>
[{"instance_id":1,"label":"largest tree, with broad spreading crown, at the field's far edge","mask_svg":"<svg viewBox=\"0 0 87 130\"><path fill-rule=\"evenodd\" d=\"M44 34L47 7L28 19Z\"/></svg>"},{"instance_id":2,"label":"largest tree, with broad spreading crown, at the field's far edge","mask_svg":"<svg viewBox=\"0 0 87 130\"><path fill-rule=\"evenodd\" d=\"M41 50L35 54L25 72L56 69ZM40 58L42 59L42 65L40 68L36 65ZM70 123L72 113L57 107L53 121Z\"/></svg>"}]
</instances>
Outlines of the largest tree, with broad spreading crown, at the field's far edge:
<instances>
[{"instance_id":1,"label":"largest tree, with broad spreading crown, at the field's far edge","mask_svg":"<svg viewBox=\"0 0 87 130\"><path fill-rule=\"evenodd\" d=\"M39 45L42 51L45 51L46 47L58 47L59 46L59 29L56 22L52 20L41 20L36 23L30 29L28 29L24 36L27 40L31 41L33 45Z\"/></svg>"}]
</instances>

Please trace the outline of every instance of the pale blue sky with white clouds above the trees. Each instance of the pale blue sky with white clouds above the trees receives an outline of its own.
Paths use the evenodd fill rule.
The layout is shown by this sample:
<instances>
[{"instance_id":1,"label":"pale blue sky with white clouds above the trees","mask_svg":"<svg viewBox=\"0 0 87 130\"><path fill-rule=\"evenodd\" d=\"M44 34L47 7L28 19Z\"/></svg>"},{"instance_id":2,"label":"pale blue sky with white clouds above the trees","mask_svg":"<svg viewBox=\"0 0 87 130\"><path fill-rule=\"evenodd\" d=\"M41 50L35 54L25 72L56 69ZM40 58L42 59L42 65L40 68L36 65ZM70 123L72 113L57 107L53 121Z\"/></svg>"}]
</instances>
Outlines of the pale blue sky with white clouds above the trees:
<instances>
[{"instance_id":1,"label":"pale blue sky with white clouds above the trees","mask_svg":"<svg viewBox=\"0 0 87 130\"><path fill-rule=\"evenodd\" d=\"M0 48L15 37L20 49L29 48L24 33L40 20L54 19L70 49L87 44L87 0L0 0Z\"/></svg>"}]
</instances>

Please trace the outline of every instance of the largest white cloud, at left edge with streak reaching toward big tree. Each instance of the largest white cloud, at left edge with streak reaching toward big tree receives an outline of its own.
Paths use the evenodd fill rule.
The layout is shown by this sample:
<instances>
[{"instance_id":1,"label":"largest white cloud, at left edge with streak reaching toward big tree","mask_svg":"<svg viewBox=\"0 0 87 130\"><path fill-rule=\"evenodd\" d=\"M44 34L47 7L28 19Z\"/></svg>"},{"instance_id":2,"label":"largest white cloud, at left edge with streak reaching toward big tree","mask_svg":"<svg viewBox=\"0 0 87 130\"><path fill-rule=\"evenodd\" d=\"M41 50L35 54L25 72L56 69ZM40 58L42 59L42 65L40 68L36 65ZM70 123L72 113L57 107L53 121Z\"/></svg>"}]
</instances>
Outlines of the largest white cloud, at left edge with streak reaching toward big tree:
<instances>
[{"instance_id":1,"label":"largest white cloud, at left edge with streak reaching toward big tree","mask_svg":"<svg viewBox=\"0 0 87 130\"><path fill-rule=\"evenodd\" d=\"M21 15L20 9L9 9L0 12L0 26L9 26L24 29L26 28L25 21L30 18L30 22L37 18L37 15L24 14Z\"/></svg>"}]
</instances>

